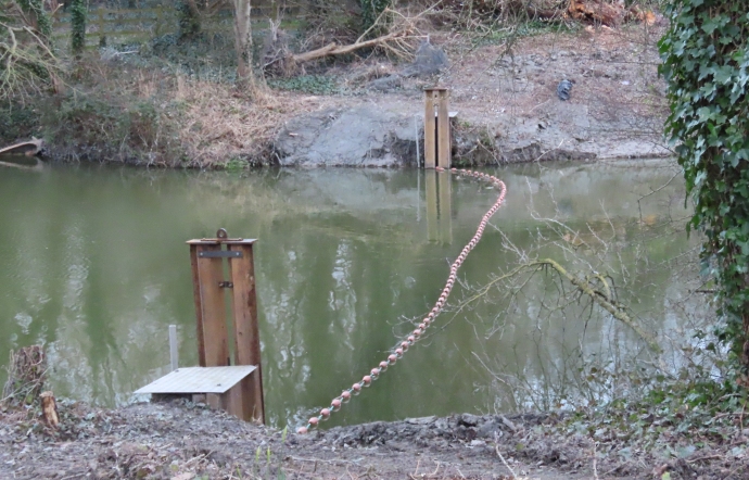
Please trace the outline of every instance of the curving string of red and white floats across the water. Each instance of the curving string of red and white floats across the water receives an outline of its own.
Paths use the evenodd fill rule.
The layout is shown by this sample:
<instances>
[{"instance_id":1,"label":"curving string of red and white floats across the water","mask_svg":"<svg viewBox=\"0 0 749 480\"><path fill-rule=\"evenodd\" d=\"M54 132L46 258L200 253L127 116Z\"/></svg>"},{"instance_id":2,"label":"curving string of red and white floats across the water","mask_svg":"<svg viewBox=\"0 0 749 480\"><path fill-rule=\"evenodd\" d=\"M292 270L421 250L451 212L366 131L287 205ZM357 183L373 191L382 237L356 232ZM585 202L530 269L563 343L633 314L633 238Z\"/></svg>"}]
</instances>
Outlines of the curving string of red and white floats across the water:
<instances>
[{"instance_id":1,"label":"curving string of red and white floats across the water","mask_svg":"<svg viewBox=\"0 0 749 480\"><path fill-rule=\"evenodd\" d=\"M458 255L455 262L453 262L453 265L450 265L449 276L447 277L447 281L445 282L445 288L440 294L440 299L432 307L432 311L424 317L423 320L421 320L421 323L411 333L409 333L404 340L402 340L398 343L398 345L390 353L390 355L388 355L388 358L380 362L380 364L377 367L372 368L369 371L369 375L365 375L361 378L361 381L354 383L350 389L346 389L343 392L341 392L339 396L334 397L330 402L329 407L322 408L320 410L319 415L309 418L309 420L307 420L306 427L300 427L296 430L297 433L307 433L310 429L317 427L321 421L329 419L330 415L333 412L340 410L341 406L344 403L348 403L352 396L361 393L361 389L370 387L372 382L377 380L380 377L380 375L382 375L382 372L388 369L388 367L394 365L398 359L401 359L403 355L408 351L408 349L412 346L419 340L419 338L421 338L427 328L434 321L437 315L440 315L440 313L442 312L442 308L445 306L447 298L449 296L453 290L453 286L457 280L458 269L466 261L466 257L468 256L470 251L473 250L475 245L479 243L479 240L481 240L481 237L484 233L484 229L486 228L490 218L492 218L492 215L494 215L496 211L499 210L499 206L502 206L502 204L505 202L507 187L505 186L504 181L502 181L495 176L483 174L480 172L458 168L450 168L449 170L447 170L442 167L436 167L435 169L437 172L450 172L453 174L466 175L477 178L479 180L490 181L493 187L499 189L499 197L497 198L496 202L494 202L494 205L492 205L492 207L481 218L481 222L479 223L479 228L477 229L473 238L466 244L466 247L464 247L462 251L460 252L460 255Z\"/></svg>"}]
</instances>

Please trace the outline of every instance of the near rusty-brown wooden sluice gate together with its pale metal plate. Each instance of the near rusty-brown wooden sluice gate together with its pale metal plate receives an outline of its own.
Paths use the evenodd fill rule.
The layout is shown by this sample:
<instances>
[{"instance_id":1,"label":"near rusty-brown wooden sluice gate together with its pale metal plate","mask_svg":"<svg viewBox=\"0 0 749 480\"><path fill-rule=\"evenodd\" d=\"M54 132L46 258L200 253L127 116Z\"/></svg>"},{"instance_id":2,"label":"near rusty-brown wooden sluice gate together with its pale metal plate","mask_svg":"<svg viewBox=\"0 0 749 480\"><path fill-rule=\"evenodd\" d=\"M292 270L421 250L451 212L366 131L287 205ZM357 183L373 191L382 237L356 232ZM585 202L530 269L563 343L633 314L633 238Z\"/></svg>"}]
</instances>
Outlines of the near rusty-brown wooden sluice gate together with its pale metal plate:
<instances>
[{"instance_id":1,"label":"near rusty-brown wooden sluice gate together with its pale metal plate","mask_svg":"<svg viewBox=\"0 0 749 480\"><path fill-rule=\"evenodd\" d=\"M135 393L187 396L243 420L265 424L252 250L255 240L231 239L220 229L216 238L187 243L192 264L200 366L177 368ZM224 260L228 263L228 279L224 275ZM230 315L227 315L227 294ZM173 353L173 367L175 364Z\"/></svg>"}]
</instances>

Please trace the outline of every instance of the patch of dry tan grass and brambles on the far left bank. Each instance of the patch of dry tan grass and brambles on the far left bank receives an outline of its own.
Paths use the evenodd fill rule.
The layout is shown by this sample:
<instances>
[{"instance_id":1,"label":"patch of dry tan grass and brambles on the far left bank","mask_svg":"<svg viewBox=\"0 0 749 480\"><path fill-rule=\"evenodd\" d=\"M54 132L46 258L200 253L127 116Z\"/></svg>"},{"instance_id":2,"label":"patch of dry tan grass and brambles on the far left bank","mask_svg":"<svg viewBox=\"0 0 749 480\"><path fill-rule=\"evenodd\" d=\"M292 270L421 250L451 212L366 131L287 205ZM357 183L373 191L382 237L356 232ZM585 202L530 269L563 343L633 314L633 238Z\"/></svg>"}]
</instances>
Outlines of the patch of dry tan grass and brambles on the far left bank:
<instances>
[{"instance_id":1,"label":"patch of dry tan grass and brambles on the far left bank","mask_svg":"<svg viewBox=\"0 0 749 480\"><path fill-rule=\"evenodd\" d=\"M283 122L320 104L300 93L261 87L250 96L230 83L94 58L77 65L73 78L45 119L54 131L51 150L71 152L73 160L199 168L271 164Z\"/></svg>"}]
</instances>

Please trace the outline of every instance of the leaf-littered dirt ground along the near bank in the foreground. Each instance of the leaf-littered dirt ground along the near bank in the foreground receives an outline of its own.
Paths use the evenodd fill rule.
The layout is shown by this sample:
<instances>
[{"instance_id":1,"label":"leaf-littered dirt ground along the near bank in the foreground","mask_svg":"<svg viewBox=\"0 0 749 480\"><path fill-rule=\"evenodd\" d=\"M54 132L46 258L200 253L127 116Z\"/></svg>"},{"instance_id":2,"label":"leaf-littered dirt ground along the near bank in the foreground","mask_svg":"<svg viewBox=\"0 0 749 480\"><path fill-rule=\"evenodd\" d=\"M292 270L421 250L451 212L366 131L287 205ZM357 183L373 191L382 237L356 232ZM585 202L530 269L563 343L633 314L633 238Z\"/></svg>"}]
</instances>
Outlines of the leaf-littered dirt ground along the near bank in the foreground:
<instances>
[{"instance_id":1,"label":"leaf-littered dirt ground along the near bank in the foreground","mask_svg":"<svg viewBox=\"0 0 749 480\"><path fill-rule=\"evenodd\" d=\"M61 426L0 413L2 479L746 479L749 430L667 455L569 432L549 415L426 417L306 435L201 404L97 409L60 403ZM22 418L24 417L24 418ZM661 445L696 441L664 432ZM733 453L732 453L733 449ZM668 473L668 476L664 476Z\"/></svg>"}]
</instances>

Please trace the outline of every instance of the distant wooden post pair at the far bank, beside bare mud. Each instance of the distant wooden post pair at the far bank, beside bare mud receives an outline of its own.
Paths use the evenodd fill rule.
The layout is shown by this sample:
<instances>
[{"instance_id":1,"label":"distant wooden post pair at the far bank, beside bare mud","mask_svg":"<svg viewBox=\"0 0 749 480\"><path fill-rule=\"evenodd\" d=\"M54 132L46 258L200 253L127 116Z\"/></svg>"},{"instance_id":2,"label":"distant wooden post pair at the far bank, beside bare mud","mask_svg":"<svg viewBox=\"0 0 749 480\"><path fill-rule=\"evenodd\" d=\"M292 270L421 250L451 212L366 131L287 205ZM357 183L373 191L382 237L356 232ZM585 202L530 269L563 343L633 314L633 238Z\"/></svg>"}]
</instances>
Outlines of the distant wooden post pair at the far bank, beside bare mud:
<instances>
[{"instance_id":1,"label":"distant wooden post pair at the far bank, beside bare mud","mask_svg":"<svg viewBox=\"0 0 749 480\"><path fill-rule=\"evenodd\" d=\"M443 87L432 87L424 89L424 168L449 168L449 92Z\"/></svg>"}]
</instances>

